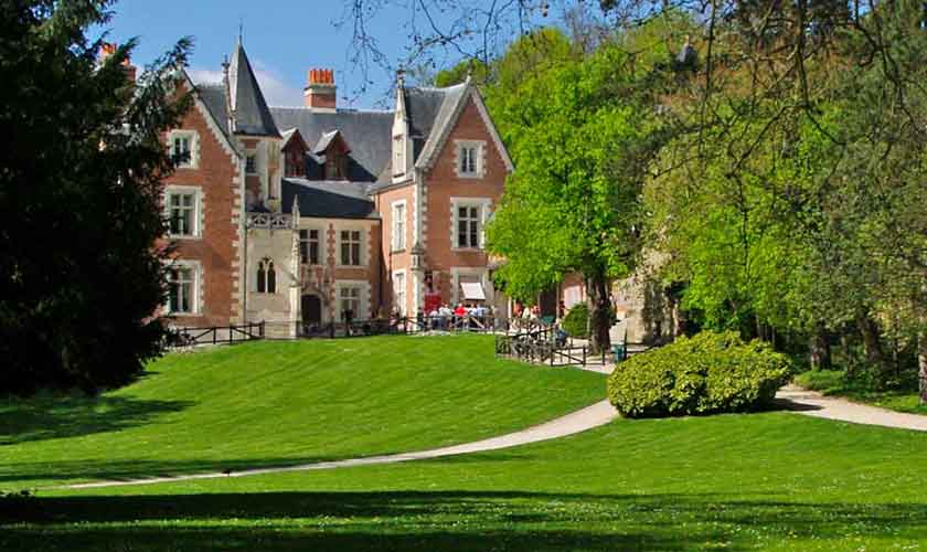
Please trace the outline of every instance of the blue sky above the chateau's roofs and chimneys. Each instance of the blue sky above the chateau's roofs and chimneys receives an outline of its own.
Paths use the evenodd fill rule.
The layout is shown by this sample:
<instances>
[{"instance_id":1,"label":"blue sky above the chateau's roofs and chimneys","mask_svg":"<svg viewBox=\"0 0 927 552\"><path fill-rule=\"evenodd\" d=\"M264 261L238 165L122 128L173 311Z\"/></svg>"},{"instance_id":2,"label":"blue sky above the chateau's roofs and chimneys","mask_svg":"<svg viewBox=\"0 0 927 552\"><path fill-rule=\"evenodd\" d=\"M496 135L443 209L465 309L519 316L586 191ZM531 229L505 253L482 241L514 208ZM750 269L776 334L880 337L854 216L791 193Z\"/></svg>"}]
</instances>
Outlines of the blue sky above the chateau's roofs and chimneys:
<instances>
[{"instance_id":1,"label":"blue sky above the chateau's roofs and chimneys","mask_svg":"<svg viewBox=\"0 0 927 552\"><path fill-rule=\"evenodd\" d=\"M482 0L461 0L478 4ZM399 0L398 3L403 3ZM223 56L232 51L244 23L244 45L262 89L270 105L302 105L306 72L311 67L332 68L339 86L339 105L344 107L386 107L393 76L374 66L367 91L359 95L363 75L349 60L352 29L343 19L342 0L277 1L204 1L204 0L121 0L108 25L111 42L139 38L132 56L136 65L145 65L167 51L180 36L195 40L190 60L194 81L219 81ZM419 18L420 19L420 18ZM404 25L409 11L394 9L381 12L370 21L370 32L391 63L403 59L409 45L409 31ZM455 54L438 60L456 61ZM348 99L342 99L348 96Z\"/></svg>"}]
</instances>

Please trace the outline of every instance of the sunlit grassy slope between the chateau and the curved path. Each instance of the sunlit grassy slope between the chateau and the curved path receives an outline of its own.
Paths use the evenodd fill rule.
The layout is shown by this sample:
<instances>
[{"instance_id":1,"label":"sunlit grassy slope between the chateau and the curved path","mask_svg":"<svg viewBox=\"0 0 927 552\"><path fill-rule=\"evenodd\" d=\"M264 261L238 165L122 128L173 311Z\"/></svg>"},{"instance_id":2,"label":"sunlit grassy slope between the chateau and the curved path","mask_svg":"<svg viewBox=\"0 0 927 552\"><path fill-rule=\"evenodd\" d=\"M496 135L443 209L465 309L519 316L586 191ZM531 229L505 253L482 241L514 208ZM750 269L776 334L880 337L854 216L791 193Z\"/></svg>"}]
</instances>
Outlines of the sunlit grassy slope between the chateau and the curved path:
<instances>
[{"instance_id":1,"label":"sunlit grassy slope between the chateau and the curved path","mask_svg":"<svg viewBox=\"0 0 927 552\"><path fill-rule=\"evenodd\" d=\"M173 354L96 401L0 403L0 490L462 443L605 395L600 374L497 360L481 336Z\"/></svg>"}]
</instances>

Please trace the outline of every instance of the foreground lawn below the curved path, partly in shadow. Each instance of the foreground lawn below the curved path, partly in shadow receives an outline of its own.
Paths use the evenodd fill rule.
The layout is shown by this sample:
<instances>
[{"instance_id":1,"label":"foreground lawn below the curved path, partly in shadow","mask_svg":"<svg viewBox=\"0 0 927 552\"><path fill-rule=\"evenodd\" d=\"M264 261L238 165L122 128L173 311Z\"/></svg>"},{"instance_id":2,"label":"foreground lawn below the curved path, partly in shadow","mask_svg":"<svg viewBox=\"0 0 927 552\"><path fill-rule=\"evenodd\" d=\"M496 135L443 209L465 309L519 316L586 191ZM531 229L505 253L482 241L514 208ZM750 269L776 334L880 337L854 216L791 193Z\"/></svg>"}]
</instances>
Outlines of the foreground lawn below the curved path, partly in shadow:
<instances>
[{"instance_id":1,"label":"foreground lawn below the curved path, partly in shadow","mask_svg":"<svg viewBox=\"0 0 927 552\"><path fill-rule=\"evenodd\" d=\"M923 433L791 413L618 420L425 463L42 491L7 501L0 549L927 550L925 457Z\"/></svg>"}]
</instances>

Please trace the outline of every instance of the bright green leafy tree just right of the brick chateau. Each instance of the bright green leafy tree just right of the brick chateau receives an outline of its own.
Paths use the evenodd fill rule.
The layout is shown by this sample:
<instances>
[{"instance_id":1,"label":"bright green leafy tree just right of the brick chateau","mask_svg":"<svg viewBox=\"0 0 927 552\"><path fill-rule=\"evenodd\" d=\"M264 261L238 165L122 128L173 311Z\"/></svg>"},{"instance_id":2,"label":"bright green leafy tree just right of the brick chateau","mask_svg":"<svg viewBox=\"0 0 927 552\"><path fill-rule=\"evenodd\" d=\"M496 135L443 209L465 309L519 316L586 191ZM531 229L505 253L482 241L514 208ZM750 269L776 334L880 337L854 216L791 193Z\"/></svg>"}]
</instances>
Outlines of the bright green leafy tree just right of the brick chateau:
<instances>
[{"instance_id":1,"label":"bright green leafy tree just right of the brick chateau","mask_svg":"<svg viewBox=\"0 0 927 552\"><path fill-rule=\"evenodd\" d=\"M610 282L636 265L641 185L667 135L648 76L605 47L526 79L493 109L518 167L487 229L507 261L499 278L526 298L582 273L595 350L609 347Z\"/></svg>"}]
</instances>

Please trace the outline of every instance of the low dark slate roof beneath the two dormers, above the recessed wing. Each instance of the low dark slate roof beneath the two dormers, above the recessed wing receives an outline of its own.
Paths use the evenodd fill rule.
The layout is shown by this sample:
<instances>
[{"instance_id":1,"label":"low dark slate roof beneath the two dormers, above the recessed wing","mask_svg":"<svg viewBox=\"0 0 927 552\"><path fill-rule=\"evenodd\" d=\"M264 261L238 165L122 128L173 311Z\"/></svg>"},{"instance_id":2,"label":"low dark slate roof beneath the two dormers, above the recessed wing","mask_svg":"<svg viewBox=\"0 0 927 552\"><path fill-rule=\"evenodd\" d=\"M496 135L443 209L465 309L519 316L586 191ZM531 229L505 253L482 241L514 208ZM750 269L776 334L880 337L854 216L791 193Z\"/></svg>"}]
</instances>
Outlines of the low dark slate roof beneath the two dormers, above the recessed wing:
<instances>
[{"instance_id":1,"label":"low dark slate roof beneath the two dormers, above the recessed wing","mask_svg":"<svg viewBox=\"0 0 927 552\"><path fill-rule=\"evenodd\" d=\"M379 219L366 187L366 182L285 178L281 183L283 212L292 212L294 199L298 198L300 216Z\"/></svg>"}]
</instances>

